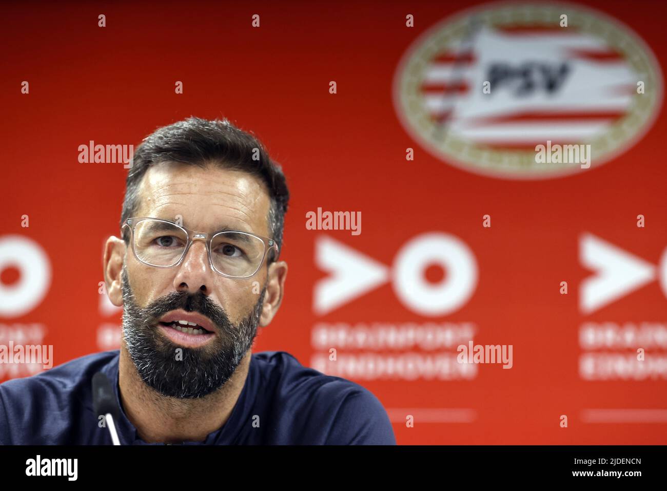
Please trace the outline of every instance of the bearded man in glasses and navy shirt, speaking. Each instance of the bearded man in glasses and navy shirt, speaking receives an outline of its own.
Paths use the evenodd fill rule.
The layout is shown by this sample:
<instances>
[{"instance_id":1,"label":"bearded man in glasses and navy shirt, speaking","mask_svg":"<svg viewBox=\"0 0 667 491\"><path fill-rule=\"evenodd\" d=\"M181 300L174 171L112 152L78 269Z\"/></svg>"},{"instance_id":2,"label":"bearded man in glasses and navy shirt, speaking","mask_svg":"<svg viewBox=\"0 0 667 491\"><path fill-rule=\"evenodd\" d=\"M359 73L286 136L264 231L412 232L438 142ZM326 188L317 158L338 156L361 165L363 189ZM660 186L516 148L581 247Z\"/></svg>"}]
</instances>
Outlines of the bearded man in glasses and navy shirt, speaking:
<instances>
[{"instance_id":1,"label":"bearded man in glasses and navy shirt, speaking","mask_svg":"<svg viewBox=\"0 0 667 491\"><path fill-rule=\"evenodd\" d=\"M103 257L121 349L1 384L0 443L111 444L93 410L101 372L125 445L396 444L364 387L284 351L251 352L287 276L289 191L261 143L189 118L145 138L126 186L122 238Z\"/></svg>"}]
</instances>

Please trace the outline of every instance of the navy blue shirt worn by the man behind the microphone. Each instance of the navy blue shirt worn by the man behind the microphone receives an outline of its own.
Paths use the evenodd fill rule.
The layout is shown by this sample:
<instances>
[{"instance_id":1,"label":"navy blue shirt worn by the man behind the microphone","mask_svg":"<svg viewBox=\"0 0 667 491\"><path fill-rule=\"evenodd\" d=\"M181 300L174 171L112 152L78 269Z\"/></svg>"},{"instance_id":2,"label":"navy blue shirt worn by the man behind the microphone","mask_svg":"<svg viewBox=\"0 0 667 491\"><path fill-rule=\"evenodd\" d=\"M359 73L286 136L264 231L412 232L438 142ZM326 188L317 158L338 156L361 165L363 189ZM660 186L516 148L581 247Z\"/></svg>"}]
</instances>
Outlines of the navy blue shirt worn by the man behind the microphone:
<instances>
[{"instance_id":1,"label":"navy blue shirt worn by the man behind the microphone","mask_svg":"<svg viewBox=\"0 0 667 491\"><path fill-rule=\"evenodd\" d=\"M38 375L0 384L0 444L111 445L93 412L91 381L102 371L118 401L122 445L145 445L129 422L118 389L119 350L94 353ZM259 416L259 427L253 421ZM285 351L251 356L248 375L229 419L209 445L395 445L378 398L358 383L301 365Z\"/></svg>"}]
</instances>

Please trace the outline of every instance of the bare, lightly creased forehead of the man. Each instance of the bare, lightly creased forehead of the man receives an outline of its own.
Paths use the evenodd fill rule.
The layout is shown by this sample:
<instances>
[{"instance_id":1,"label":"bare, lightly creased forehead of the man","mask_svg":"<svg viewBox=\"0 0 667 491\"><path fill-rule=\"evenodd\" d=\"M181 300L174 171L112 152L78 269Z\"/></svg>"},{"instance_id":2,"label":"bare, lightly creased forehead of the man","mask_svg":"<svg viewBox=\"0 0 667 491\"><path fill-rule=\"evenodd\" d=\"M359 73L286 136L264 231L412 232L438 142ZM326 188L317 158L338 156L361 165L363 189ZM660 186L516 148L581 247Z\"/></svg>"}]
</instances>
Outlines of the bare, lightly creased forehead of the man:
<instances>
[{"instance_id":1,"label":"bare, lightly creased forehead of the man","mask_svg":"<svg viewBox=\"0 0 667 491\"><path fill-rule=\"evenodd\" d=\"M182 218L197 232L234 228L269 236L270 200L266 186L247 172L162 162L144 174L137 216L165 220Z\"/></svg>"}]
</instances>

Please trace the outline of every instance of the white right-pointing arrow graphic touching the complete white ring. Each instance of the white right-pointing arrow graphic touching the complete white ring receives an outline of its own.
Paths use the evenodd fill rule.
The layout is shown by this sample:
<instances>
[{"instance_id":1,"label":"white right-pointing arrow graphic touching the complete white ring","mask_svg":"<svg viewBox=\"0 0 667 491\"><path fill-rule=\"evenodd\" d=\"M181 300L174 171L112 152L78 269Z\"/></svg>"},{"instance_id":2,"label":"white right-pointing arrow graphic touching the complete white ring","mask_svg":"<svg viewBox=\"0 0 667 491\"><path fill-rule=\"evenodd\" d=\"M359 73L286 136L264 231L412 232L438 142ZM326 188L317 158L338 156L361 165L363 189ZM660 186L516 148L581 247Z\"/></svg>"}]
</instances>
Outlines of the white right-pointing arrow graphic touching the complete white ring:
<instances>
[{"instance_id":1,"label":"white right-pointing arrow graphic touching the complete white ring","mask_svg":"<svg viewBox=\"0 0 667 491\"><path fill-rule=\"evenodd\" d=\"M313 310L320 315L389 280L388 267L324 235L315 239L315 264L331 273L315 285Z\"/></svg>"}]
</instances>

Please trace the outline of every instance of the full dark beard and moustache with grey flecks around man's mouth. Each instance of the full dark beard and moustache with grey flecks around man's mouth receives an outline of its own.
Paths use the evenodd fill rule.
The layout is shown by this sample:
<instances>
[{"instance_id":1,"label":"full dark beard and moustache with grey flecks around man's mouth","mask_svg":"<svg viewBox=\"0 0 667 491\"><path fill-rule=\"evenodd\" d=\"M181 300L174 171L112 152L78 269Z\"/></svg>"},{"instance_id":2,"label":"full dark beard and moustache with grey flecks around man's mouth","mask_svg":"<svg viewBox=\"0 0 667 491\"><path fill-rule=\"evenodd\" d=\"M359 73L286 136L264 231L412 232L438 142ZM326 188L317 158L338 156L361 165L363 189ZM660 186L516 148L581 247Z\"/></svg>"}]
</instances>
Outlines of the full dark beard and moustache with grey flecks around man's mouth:
<instances>
[{"instance_id":1,"label":"full dark beard and moustache with grey flecks around man's mouth","mask_svg":"<svg viewBox=\"0 0 667 491\"><path fill-rule=\"evenodd\" d=\"M204 397L222 387L252 347L266 286L250 315L233 325L227 313L203 293L172 292L142 309L129 287L125 266L122 279L125 347L144 383L161 395L179 399ZM158 319L175 309L208 317L218 329L213 341L189 348L159 333Z\"/></svg>"}]
</instances>

